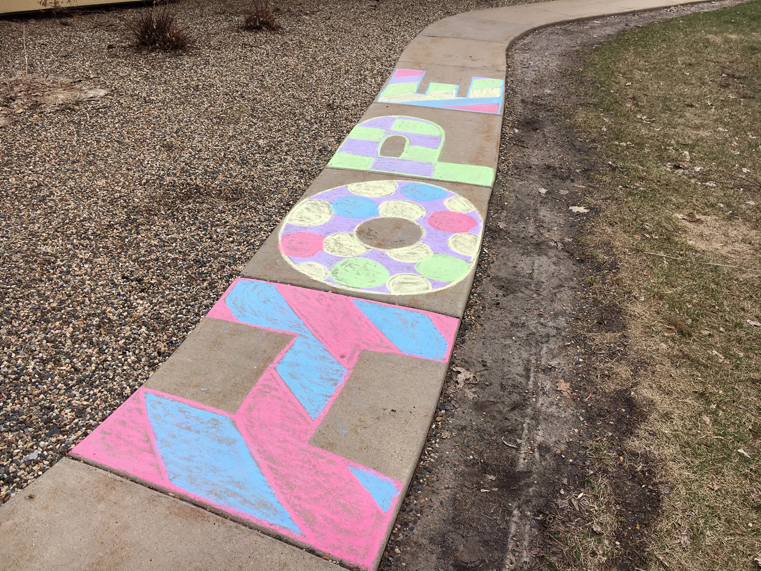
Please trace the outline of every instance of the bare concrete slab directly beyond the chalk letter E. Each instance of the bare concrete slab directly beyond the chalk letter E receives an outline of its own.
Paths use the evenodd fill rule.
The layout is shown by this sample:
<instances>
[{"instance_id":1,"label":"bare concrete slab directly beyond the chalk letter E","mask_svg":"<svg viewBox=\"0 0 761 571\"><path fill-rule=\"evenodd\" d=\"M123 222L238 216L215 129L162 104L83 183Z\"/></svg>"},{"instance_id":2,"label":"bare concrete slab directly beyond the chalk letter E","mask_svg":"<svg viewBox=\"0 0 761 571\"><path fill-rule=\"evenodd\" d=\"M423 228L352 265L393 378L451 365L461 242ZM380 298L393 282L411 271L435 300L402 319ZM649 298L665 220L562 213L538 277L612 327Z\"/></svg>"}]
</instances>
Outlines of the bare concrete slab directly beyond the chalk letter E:
<instances>
[{"instance_id":1,"label":"bare concrete slab directly beyond the chalk letter E","mask_svg":"<svg viewBox=\"0 0 761 571\"><path fill-rule=\"evenodd\" d=\"M425 65L457 65L488 69L504 76L507 69L505 57L504 43L418 36L404 49L397 67L408 67L406 62L420 62Z\"/></svg>"}]
</instances>

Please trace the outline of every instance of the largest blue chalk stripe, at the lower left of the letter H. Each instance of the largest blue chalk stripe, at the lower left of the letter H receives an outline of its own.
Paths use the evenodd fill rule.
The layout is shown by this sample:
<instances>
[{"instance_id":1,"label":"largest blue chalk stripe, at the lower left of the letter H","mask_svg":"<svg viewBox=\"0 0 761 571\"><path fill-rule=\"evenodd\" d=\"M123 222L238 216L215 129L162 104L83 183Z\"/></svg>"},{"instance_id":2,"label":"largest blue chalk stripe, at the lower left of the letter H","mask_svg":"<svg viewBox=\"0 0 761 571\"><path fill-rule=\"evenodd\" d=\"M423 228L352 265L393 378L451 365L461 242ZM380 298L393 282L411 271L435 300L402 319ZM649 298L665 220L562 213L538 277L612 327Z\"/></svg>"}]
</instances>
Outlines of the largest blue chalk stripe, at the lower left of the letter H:
<instances>
[{"instance_id":1,"label":"largest blue chalk stripe, at the lower left of the letter H","mask_svg":"<svg viewBox=\"0 0 761 571\"><path fill-rule=\"evenodd\" d=\"M301 534L231 419L148 392L145 407L172 483L223 508Z\"/></svg>"}]
</instances>

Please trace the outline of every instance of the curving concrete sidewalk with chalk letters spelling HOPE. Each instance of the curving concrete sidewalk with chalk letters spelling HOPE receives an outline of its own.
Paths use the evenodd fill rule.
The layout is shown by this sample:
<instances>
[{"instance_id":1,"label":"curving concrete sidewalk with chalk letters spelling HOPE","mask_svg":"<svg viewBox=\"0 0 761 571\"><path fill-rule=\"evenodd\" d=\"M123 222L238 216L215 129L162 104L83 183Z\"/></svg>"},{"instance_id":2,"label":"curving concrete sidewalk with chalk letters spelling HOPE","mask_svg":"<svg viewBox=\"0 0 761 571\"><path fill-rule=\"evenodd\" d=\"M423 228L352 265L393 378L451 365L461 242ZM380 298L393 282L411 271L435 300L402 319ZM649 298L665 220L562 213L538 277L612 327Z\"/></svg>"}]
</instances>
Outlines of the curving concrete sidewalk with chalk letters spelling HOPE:
<instances>
[{"instance_id":1,"label":"curving concrete sidewalk with chalk letters spelling HOPE","mask_svg":"<svg viewBox=\"0 0 761 571\"><path fill-rule=\"evenodd\" d=\"M505 50L680 3L557 0L422 30L241 277L75 446L84 464L0 507L0 553L18 569L377 568L476 270Z\"/></svg>"}]
</instances>

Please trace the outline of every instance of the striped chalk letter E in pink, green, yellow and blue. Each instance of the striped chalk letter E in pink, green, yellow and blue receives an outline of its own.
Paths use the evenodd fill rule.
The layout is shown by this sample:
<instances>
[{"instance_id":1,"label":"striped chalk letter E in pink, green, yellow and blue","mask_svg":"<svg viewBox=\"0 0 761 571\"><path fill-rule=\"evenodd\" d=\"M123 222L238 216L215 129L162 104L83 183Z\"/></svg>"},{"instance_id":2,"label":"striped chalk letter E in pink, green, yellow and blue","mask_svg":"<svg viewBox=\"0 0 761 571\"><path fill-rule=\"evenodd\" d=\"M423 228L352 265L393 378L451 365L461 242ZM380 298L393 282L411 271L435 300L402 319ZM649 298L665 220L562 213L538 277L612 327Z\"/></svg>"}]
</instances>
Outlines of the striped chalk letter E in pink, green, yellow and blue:
<instances>
[{"instance_id":1,"label":"striped chalk letter E in pink, green, yellow and blue","mask_svg":"<svg viewBox=\"0 0 761 571\"><path fill-rule=\"evenodd\" d=\"M464 97L458 97L460 85L431 81L425 93L418 93L425 76L422 69L395 69L388 84L380 91L378 103L456 109L476 113L494 113L502 110L505 80L473 76Z\"/></svg>"}]
</instances>

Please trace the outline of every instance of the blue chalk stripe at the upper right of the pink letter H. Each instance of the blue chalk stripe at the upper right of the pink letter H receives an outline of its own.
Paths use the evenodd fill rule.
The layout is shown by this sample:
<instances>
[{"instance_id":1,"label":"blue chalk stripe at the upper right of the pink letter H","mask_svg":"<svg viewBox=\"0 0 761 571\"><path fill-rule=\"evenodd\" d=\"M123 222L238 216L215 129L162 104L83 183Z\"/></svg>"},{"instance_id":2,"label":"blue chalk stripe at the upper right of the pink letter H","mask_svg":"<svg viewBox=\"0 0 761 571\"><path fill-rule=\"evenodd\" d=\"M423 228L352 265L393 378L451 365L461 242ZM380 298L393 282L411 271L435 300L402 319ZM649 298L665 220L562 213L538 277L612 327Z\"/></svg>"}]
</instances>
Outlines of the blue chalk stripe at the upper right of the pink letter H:
<instances>
[{"instance_id":1,"label":"blue chalk stripe at the upper right of the pink letter H","mask_svg":"<svg viewBox=\"0 0 761 571\"><path fill-rule=\"evenodd\" d=\"M354 305L403 353L444 359L449 343L433 321L419 311L355 299Z\"/></svg>"}]
</instances>

